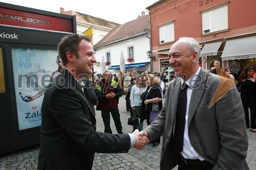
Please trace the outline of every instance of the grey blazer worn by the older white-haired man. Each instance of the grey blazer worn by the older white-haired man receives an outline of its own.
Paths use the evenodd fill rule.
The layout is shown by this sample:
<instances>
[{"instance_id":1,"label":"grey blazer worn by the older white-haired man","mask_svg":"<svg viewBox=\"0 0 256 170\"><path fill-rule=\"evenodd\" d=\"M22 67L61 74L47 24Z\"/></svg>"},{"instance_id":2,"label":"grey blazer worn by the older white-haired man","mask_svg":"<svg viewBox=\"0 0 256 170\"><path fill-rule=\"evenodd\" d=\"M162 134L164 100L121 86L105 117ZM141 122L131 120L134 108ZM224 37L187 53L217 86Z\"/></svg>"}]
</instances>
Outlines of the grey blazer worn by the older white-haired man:
<instances>
[{"instance_id":1,"label":"grey blazer worn by the older white-haired man","mask_svg":"<svg viewBox=\"0 0 256 170\"><path fill-rule=\"evenodd\" d=\"M191 94L188 111L188 136L193 148L213 169L249 169L246 163L248 139L244 110L236 86L230 79L200 69ZM218 86L220 86L218 88ZM181 78L171 81L163 109L145 128L150 141L163 134L160 169L174 168L177 155L173 147ZM216 98L221 94L221 98ZM213 104L211 107L210 104Z\"/></svg>"}]
</instances>

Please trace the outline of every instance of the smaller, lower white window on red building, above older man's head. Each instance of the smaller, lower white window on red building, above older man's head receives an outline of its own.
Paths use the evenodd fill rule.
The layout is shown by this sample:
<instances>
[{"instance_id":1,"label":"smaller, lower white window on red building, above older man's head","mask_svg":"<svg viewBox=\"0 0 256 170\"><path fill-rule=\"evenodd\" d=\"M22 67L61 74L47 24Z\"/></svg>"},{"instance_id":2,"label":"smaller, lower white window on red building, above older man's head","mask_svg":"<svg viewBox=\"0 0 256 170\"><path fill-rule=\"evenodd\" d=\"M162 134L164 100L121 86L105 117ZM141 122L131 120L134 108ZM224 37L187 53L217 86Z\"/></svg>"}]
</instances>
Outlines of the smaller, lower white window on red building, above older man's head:
<instances>
[{"instance_id":1,"label":"smaller, lower white window on red building, above older man's head","mask_svg":"<svg viewBox=\"0 0 256 170\"><path fill-rule=\"evenodd\" d=\"M160 44L174 41L174 22L159 27L159 41Z\"/></svg>"}]
</instances>

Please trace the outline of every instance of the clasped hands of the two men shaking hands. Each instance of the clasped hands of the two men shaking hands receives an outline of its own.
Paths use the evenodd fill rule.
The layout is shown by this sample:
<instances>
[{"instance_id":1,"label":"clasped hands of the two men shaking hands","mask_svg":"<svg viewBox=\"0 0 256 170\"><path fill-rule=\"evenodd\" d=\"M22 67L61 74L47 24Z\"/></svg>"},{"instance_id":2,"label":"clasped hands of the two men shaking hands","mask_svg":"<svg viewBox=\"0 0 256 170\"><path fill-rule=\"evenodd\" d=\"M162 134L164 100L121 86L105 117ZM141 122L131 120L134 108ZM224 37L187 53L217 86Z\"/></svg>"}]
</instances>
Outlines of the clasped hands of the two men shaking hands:
<instances>
[{"instance_id":1,"label":"clasped hands of the two men shaking hands","mask_svg":"<svg viewBox=\"0 0 256 170\"><path fill-rule=\"evenodd\" d=\"M134 137L135 137L135 144L134 148L141 150L143 149L149 142L150 140L148 139L148 134L145 131L140 131L136 129L134 132Z\"/></svg>"}]
</instances>

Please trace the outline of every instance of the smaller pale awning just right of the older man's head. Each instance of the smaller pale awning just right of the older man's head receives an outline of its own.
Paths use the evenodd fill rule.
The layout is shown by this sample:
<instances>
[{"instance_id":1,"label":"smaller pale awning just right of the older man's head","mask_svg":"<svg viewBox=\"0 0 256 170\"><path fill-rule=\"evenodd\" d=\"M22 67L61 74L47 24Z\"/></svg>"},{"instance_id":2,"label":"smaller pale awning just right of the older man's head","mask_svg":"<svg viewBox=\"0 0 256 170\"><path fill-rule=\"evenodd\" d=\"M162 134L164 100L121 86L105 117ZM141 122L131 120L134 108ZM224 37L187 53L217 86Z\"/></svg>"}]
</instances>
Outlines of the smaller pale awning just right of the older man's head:
<instances>
[{"instance_id":1,"label":"smaller pale awning just right of the older man's head","mask_svg":"<svg viewBox=\"0 0 256 170\"><path fill-rule=\"evenodd\" d=\"M203 47L203 50L200 53L200 57L216 56L218 54L218 50L219 50L221 44L222 44L222 41L205 44Z\"/></svg>"}]
</instances>

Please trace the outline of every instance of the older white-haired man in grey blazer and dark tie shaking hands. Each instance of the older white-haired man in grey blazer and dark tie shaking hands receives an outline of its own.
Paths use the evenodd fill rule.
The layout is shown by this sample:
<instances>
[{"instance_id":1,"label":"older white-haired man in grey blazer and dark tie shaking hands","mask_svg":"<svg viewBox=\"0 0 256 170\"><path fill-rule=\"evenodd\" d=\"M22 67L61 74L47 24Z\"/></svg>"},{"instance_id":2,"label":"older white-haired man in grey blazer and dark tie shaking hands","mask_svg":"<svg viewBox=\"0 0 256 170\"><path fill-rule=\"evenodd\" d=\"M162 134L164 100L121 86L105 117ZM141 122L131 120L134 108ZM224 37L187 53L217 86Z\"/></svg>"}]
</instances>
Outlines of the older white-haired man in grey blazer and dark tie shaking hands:
<instances>
[{"instance_id":1,"label":"older white-haired man in grey blazer and dark tie shaking hands","mask_svg":"<svg viewBox=\"0 0 256 170\"><path fill-rule=\"evenodd\" d=\"M163 134L161 170L177 164L179 170L249 169L238 90L230 79L200 68L199 55L194 38L183 37L172 45L169 63L179 78L169 83L161 113L140 135L153 141Z\"/></svg>"}]
</instances>

